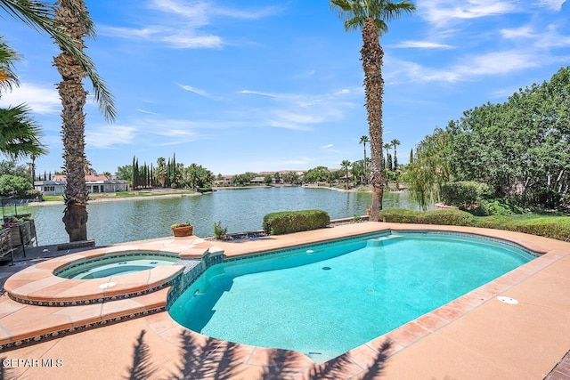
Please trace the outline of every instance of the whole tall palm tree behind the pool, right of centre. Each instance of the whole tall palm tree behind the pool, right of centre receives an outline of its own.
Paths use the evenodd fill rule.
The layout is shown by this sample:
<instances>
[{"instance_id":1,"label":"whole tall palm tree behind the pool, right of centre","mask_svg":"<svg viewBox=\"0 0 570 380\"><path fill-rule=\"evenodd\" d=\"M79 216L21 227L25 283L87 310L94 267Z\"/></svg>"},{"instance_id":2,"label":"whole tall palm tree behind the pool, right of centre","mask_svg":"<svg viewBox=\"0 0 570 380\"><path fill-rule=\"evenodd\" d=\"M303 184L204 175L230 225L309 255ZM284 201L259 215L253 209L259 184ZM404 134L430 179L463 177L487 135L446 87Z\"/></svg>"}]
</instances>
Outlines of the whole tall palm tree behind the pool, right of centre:
<instances>
[{"instance_id":1,"label":"whole tall palm tree behind the pool, right of centre","mask_svg":"<svg viewBox=\"0 0 570 380\"><path fill-rule=\"evenodd\" d=\"M370 220L379 221L382 208L385 179L382 166L382 58L384 52L379 36L387 32L387 22L398 18L403 12L411 13L416 5L409 0L330 0L345 20L345 29L362 29L362 69L364 71L364 92L368 113L368 128L371 138L371 184L372 205Z\"/></svg>"}]
</instances>

